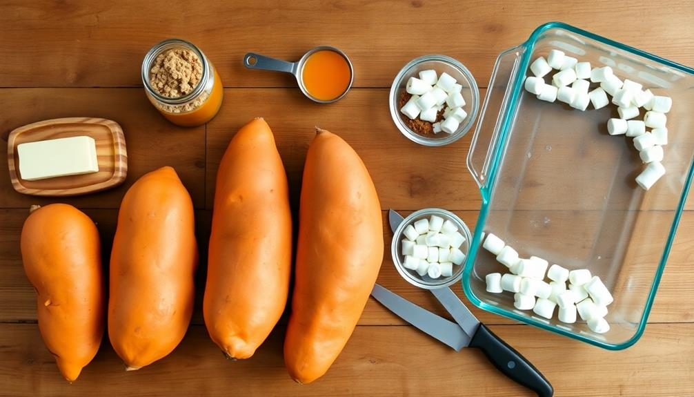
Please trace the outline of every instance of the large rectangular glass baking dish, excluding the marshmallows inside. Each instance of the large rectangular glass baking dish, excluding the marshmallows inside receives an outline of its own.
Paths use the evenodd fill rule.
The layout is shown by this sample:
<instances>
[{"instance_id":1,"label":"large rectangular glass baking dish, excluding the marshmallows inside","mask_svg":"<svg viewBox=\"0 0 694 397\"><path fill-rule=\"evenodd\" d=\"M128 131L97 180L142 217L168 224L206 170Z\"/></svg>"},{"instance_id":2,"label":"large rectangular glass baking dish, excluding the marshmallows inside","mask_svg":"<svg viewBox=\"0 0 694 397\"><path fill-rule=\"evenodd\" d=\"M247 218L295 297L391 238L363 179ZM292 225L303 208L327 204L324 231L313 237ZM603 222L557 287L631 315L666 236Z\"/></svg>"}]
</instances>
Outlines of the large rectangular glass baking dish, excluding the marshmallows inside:
<instances>
[{"instance_id":1,"label":"large rectangular glass baking dish, excluding the marshmallows inside","mask_svg":"<svg viewBox=\"0 0 694 397\"><path fill-rule=\"evenodd\" d=\"M667 174L648 191L634 182L643 164L631 138L607 134L616 106L581 112L539 101L523 90L528 65L550 49L611 66L656 95L672 97ZM595 346L634 344L648 319L692 179L694 69L559 22L539 26L527 42L496 60L468 153L482 193L463 287L473 304ZM641 116L643 117L643 110ZM614 296L602 335L516 310L511 293L486 292L487 273L508 270L482 249L494 233L521 257L536 255L568 269L590 269Z\"/></svg>"}]
</instances>

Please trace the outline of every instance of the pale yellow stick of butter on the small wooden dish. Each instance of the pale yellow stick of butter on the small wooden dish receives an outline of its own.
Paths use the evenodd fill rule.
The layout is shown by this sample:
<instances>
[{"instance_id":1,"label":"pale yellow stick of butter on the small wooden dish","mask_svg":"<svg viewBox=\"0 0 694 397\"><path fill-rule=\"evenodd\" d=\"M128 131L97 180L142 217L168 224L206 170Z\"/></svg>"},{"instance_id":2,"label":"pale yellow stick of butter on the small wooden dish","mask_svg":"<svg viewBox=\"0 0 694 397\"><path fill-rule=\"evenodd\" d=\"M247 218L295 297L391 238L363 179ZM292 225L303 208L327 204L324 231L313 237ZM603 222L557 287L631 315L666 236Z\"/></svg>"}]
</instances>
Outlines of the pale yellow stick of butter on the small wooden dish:
<instances>
[{"instance_id":1,"label":"pale yellow stick of butter on the small wooden dish","mask_svg":"<svg viewBox=\"0 0 694 397\"><path fill-rule=\"evenodd\" d=\"M99 171L94 138L80 136L17 145L24 180L91 174Z\"/></svg>"}]
</instances>

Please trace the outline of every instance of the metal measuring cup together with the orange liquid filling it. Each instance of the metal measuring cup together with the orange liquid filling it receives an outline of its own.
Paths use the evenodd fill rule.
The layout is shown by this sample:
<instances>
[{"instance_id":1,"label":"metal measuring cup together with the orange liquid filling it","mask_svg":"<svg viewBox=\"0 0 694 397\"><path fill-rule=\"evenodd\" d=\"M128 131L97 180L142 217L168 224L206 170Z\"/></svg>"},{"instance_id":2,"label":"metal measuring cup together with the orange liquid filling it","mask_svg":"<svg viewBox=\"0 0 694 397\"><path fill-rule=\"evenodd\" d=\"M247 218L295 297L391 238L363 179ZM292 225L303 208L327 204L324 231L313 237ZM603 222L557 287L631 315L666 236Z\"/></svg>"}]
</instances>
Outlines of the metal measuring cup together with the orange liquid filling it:
<instances>
[{"instance_id":1,"label":"metal measuring cup together with the orange liquid filling it","mask_svg":"<svg viewBox=\"0 0 694 397\"><path fill-rule=\"evenodd\" d=\"M352 87L354 80L352 62L344 52L329 46L316 47L296 62L247 53L244 65L248 69L293 74L301 92L318 103L332 103L341 99Z\"/></svg>"}]
</instances>

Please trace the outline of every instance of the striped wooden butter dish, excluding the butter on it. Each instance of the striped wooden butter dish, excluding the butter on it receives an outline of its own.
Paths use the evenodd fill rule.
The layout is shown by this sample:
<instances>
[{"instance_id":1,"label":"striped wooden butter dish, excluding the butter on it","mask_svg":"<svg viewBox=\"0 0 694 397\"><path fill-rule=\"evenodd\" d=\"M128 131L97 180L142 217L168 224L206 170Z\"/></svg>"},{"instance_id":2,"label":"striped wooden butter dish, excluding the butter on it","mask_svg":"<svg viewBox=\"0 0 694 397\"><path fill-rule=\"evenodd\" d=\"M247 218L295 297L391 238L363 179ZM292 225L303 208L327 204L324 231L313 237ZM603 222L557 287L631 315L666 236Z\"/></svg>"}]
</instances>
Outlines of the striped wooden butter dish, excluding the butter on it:
<instances>
[{"instance_id":1,"label":"striped wooden butter dish, excluding the butter on it","mask_svg":"<svg viewBox=\"0 0 694 397\"><path fill-rule=\"evenodd\" d=\"M89 136L96 142L99 171L92 174L24 180L19 174L17 145L58 138ZM128 173L128 154L123 130L118 123L91 117L67 117L38 121L12 130L8 138L8 167L12 187L34 196L76 196L117 186Z\"/></svg>"}]
</instances>

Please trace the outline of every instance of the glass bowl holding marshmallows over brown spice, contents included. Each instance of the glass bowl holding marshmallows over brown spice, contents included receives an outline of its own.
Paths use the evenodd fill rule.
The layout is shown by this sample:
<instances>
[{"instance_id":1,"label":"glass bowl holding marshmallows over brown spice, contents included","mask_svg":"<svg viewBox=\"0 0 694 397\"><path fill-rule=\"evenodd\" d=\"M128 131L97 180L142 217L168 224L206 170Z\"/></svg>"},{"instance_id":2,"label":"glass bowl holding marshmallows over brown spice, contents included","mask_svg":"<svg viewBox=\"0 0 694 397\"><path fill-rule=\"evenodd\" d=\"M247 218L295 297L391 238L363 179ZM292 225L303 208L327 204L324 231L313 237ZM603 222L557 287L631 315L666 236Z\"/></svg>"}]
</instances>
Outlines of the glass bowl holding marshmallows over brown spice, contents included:
<instances>
[{"instance_id":1,"label":"glass bowl holding marshmallows over brown spice, contents included","mask_svg":"<svg viewBox=\"0 0 694 397\"><path fill-rule=\"evenodd\" d=\"M393 122L405 137L424 146L443 146L472 128L480 93L461 62L430 55L400 69L389 101Z\"/></svg>"}]
</instances>

